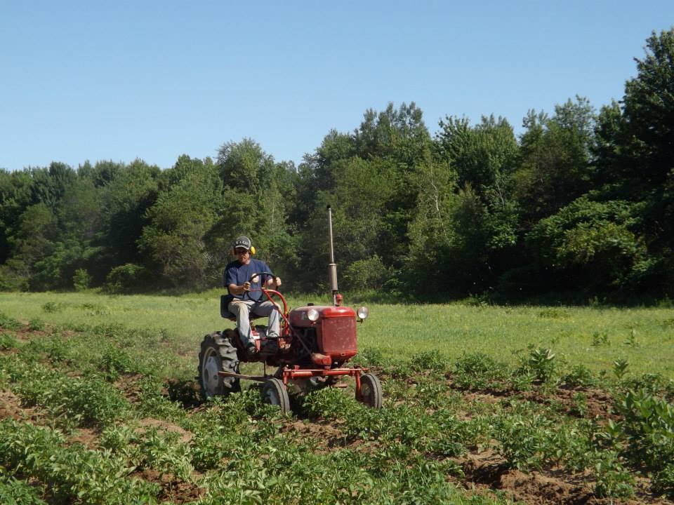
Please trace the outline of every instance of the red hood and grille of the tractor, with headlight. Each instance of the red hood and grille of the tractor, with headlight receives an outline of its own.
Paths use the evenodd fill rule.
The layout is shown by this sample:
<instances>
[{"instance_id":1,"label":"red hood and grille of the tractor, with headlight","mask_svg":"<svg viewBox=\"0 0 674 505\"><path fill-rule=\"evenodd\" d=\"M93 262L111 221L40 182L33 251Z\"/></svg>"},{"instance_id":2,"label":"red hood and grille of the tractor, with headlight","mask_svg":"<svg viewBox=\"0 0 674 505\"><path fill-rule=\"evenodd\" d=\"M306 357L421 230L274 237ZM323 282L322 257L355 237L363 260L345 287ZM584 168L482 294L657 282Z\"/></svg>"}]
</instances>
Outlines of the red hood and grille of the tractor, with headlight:
<instances>
[{"instance_id":1,"label":"red hood and grille of the tractor, with headlight","mask_svg":"<svg viewBox=\"0 0 674 505\"><path fill-rule=\"evenodd\" d=\"M350 307L308 305L290 313L290 325L312 351L341 365L358 353L356 343L356 314Z\"/></svg>"}]
</instances>

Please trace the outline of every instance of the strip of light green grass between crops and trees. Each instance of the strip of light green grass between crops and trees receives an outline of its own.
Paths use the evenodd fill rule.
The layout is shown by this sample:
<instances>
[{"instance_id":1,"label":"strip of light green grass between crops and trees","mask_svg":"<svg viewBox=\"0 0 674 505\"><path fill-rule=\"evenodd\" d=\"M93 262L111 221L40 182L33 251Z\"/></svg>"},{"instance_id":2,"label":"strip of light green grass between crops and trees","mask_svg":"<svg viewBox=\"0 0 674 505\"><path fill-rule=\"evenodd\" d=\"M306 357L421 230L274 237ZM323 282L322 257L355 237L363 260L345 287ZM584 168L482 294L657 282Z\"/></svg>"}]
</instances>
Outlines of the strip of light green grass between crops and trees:
<instances>
[{"instance_id":1,"label":"strip of light green grass between crops and trees","mask_svg":"<svg viewBox=\"0 0 674 505\"><path fill-rule=\"evenodd\" d=\"M0 311L33 325L123 324L155 332L194 361L201 337L232 328L219 314L219 292L199 295L110 296L92 293L0 293ZM291 307L327 303L327 297L290 296ZM348 299L347 299L348 302ZM480 352L505 363L529 346L553 349L568 363L595 372L626 359L629 370L674 378L674 311L661 308L501 307L452 304L368 304L359 348L391 360L421 351L448 358Z\"/></svg>"}]
</instances>

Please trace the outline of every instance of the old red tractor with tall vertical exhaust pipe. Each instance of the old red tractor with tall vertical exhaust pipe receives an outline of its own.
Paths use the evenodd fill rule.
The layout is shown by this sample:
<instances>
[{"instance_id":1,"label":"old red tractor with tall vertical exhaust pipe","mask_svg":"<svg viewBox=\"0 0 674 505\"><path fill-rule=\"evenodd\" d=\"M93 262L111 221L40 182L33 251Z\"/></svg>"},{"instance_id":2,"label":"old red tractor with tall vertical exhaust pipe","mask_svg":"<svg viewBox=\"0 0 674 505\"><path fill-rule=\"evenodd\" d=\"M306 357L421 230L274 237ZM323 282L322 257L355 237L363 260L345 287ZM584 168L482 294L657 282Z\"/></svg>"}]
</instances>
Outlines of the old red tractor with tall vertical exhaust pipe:
<instances>
[{"instance_id":1,"label":"old red tractor with tall vertical exhaust pipe","mask_svg":"<svg viewBox=\"0 0 674 505\"><path fill-rule=\"evenodd\" d=\"M199 384L206 398L240 391L240 379L263 382L265 403L278 405L289 412L288 387L306 391L322 386L339 386L341 377L355 379L356 399L372 408L381 408L382 391L379 379L367 368L349 367L356 356L356 324L368 315L366 307L353 311L343 307L337 289L337 267L332 246L332 214L328 208L330 231L329 276L332 305L308 304L289 311L286 299L276 290L262 288L263 294L276 304L281 315L278 338L266 335L264 326L253 327L257 353L246 352L238 330L213 332L204 337L199 352ZM255 282L256 279L251 279ZM279 302L275 302L278 298ZM236 318L227 310L227 299L220 297L220 315L230 321ZM251 318L254 316L251 314ZM264 363L263 375L242 375L239 363ZM276 371L267 374L267 366Z\"/></svg>"}]
</instances>

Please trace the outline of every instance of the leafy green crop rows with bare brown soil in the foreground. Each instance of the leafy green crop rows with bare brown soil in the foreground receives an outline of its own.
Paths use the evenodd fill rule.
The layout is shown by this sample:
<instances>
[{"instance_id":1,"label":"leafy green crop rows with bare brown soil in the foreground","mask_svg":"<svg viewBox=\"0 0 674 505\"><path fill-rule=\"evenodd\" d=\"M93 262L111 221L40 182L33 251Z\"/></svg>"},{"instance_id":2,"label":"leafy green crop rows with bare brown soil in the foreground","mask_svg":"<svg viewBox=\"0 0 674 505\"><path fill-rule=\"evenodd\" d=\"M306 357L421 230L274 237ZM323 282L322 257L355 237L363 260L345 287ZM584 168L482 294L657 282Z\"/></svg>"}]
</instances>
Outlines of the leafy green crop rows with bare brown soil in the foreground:
<instances>
[{"instance_id":1,"label":"leafy green crop rows with bare brown soil in the foreground","mask_svg":"<svg viewBox=\"0 0 674 505\"><path fill-rule=\"evenodd\" d=\"M152 469L199 487L201 504L489 503L498 499L466 496L451 483L463 478L466 454L487 448L504 469L589 473L600 497L629 497L637 476L674 494L672 384L630 378L619 363L609 381L568 367L550 349L522 351L515 367L480 354L448 361L425 353L395 368L369 350L360 359L385 379L384 409L323 389L295 398L292 419L261 405L257 389L183 408L173 399L184 398L167 392L163 356L135 352L150 339L118 327L25 344L4 333L3 349L13 351L0 356L0 387L37 409L46 426L1 422L0 497L121 503L105 491L116 487L125 503L156 501L157 485L134 478ZM133 395L120 377L134 378ZM597 387L614 398L610 418L585 412ZM575 391L573 405L557 401L560 388ZM148 428L147 417L165 424ZM82 426L95 429L95 448L70 443Z\"/></svg>"}]
</instances>

